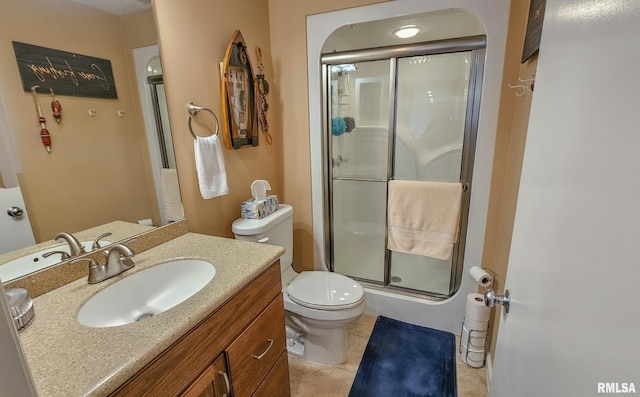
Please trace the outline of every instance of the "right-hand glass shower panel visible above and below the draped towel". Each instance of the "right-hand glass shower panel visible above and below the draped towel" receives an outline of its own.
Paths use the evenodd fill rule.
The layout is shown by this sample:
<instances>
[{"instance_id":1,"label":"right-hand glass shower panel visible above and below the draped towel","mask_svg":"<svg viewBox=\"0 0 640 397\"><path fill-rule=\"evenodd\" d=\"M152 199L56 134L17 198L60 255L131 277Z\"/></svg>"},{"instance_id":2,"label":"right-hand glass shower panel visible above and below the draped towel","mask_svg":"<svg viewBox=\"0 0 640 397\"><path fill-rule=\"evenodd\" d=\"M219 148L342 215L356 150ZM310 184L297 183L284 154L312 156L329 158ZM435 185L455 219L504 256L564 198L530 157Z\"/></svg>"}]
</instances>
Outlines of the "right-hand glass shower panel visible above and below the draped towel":
<instances>
[{"instance_id":1,"label":"right-hand glass shower panel visible above and below the draped towel","mask_svg":"<svg viewBox=\"0 0 640 397\"><path fill-rule=\"evenodd\" d=\"M471 52L400 58L397 71L394 179L460 182ZM389 284L449 295L455 259L391 251Z\"/></svg>"}]
</instances>

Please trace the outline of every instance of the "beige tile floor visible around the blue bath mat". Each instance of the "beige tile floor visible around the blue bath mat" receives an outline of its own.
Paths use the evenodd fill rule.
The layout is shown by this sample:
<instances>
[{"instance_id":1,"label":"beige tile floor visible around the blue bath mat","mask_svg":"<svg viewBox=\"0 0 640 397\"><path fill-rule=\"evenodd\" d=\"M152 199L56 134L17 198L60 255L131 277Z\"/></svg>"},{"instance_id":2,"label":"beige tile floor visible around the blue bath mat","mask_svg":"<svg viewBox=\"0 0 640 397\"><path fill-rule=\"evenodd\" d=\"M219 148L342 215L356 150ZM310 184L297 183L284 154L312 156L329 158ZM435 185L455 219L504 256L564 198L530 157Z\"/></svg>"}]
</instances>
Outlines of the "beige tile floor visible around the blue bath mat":
<instances>
[{"instance_id":1,"label":"beige tile floor visible around the blue bath mat","mask_svg":"<svg viewBox=\"0 0 640 397\"><path fill-rule=\"evenodd\" d=\"M358 371L358 365L367 346L376 316L365 314L347 330L349 355L340 365L325 366L307 363L289 354L289 378L292 397L346 397ZM456 346L459 345L456 337ZM456 347L457 353L457 347ZM487 397L485 368L474 369L456 354L458 397Z\"/></svg>"}]
</instances>

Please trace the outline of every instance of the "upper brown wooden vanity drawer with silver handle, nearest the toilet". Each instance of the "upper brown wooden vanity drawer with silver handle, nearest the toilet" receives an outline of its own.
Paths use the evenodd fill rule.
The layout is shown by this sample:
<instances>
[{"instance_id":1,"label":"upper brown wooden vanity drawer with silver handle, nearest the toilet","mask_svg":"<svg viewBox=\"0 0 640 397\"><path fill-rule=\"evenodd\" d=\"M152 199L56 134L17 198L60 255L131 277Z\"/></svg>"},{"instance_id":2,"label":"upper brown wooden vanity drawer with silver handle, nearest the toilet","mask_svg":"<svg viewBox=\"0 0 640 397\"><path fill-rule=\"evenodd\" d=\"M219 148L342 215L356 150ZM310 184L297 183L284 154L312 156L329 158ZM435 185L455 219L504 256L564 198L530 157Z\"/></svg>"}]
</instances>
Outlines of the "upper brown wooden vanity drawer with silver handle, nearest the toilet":
<instances>
[{"instance_id":1,"label":"upper brown wooden vanity drawer with silver handle, nearest the toilet","mask_svg":"<svg viewBox=\"0 0 640 397\"><path fill-rule=\"evenodd\" d=\"M284 351L284 305L279 295L227 349L233 395L251 396Z\"/></svg>"}]
</instances>

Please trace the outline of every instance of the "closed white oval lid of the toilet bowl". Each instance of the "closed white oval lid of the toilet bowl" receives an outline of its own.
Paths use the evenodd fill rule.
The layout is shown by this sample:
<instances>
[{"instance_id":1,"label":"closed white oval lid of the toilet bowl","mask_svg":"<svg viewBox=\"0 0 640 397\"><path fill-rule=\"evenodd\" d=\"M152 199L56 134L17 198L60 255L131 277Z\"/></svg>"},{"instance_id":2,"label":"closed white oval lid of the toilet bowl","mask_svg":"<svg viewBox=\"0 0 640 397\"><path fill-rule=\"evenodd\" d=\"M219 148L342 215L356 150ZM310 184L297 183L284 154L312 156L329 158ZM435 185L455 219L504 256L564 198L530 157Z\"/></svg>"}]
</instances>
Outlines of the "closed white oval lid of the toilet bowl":
<instances>
[{"instance_id":1,"label":"closed white oval lid of the toilet bowl","mask_svg":"<svg viewBox=\"0 0 640 397\"><path fill-rule=\"evenodd\" d=\"M364 288L342 274L324 271L302 272L289 284L292 301L312 309L342 310L364 300Z\"/></svg>"}]
</instances>

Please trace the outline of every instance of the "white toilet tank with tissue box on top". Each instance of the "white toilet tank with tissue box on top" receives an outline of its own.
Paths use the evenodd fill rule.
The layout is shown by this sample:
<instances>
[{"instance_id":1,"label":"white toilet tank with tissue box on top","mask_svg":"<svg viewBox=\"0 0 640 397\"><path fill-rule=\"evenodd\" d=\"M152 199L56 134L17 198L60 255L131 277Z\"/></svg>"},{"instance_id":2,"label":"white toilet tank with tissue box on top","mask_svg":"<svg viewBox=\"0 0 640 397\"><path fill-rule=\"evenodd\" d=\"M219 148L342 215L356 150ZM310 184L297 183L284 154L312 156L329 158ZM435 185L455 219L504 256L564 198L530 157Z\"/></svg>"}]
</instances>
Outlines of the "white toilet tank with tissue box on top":
<instances>
[{"instance_id":1,"label":"white toilet tank with tissue box on top","mask_svg":"<svg viewBox=\"0 0 640 397\"><path fill-rule=\"evenodd\" d=\"M293 263L293 208L280 204L280 208L262 219L236 219L231 225L236 240L253 241L284 247L280 257L282 269Z\"/></svg>"}]
</instances>

